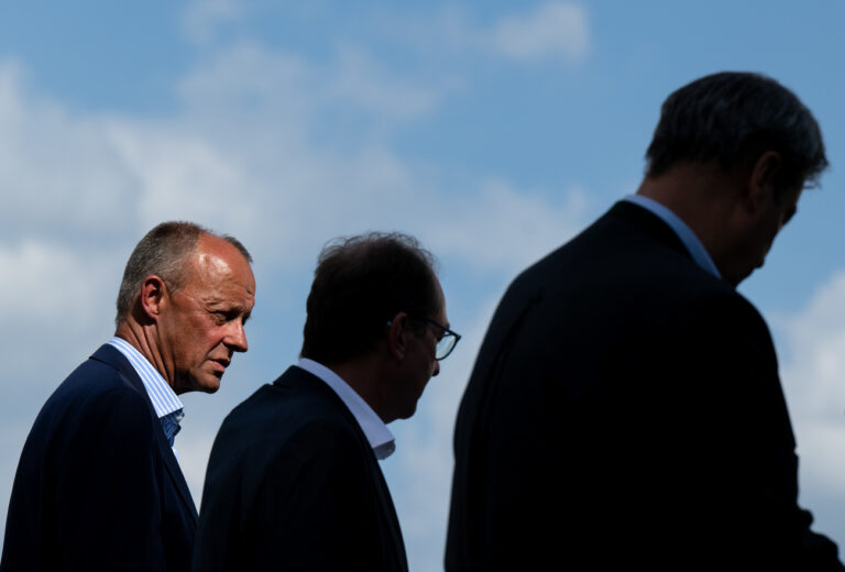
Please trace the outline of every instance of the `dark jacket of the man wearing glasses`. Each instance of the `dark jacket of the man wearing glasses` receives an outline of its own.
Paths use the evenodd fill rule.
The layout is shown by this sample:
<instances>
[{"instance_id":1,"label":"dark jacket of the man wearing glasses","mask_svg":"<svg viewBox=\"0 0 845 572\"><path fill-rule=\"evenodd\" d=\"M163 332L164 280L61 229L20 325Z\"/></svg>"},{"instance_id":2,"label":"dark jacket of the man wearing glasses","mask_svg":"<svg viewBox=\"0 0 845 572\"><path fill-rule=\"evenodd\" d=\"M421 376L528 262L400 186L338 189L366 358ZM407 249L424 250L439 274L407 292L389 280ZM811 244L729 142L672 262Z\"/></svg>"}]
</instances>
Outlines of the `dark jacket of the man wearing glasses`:
<instances>
[{"instance_id":1,"label":"dark jacket of the man wearing glasses","mask_svg":"<svg viewBox=\"0 0 845 572\"><path fill-rule=\"evenodd\" d=\"M402 531L354 417L296 366L217 435L194 570L405 571Z\"/></svg>"}]
</instances>

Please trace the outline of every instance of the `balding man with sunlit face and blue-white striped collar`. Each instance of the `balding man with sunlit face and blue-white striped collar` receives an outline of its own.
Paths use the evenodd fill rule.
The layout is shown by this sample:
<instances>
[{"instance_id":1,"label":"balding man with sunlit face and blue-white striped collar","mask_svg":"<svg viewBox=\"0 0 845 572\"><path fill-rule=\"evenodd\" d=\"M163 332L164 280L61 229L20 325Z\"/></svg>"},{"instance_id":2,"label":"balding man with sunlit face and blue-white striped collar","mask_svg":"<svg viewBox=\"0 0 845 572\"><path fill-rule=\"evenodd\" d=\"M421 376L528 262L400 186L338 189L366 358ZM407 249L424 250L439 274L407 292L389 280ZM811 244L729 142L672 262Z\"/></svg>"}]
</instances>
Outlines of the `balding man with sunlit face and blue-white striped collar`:
<instances>
[{"instance_id":1,"label":"balding man with sunlit face and blue-white striped collar","mask_svg":"<svg viewBox=\"0 0 845 572\"><path fill-rule=\"evenodd\" d=\"M53 393L24 444L0 570L190 570L197 510L176 461L178 395L246 351L252 258L164 222L135 246L114 337Z\"/></svg>"}]
</instances>

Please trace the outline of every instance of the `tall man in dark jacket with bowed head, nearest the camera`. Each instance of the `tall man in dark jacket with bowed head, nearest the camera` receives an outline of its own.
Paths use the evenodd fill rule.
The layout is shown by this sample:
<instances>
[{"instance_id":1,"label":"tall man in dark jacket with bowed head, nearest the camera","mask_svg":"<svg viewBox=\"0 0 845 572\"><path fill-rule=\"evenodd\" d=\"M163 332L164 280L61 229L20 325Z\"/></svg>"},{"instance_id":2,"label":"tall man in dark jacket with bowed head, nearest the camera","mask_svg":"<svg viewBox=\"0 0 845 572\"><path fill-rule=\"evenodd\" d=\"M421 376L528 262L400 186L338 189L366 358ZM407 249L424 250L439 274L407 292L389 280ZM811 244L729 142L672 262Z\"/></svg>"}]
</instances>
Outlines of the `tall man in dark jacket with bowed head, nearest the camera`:
<instances>
[{"instance_id":1,"label":"tall man in dark jacket with bowed head, nearest the camera","mask_svg":"<svg viewBox=\"0 0 845 572\"><path fill-rule=\"evenodd\" d=\"M447 570L841 571L735 287L827 166L777 81L662 106L636 195L508 288L461 403ZM552 563L552 564L549 564Z\"/></svg>"}]
</instances>

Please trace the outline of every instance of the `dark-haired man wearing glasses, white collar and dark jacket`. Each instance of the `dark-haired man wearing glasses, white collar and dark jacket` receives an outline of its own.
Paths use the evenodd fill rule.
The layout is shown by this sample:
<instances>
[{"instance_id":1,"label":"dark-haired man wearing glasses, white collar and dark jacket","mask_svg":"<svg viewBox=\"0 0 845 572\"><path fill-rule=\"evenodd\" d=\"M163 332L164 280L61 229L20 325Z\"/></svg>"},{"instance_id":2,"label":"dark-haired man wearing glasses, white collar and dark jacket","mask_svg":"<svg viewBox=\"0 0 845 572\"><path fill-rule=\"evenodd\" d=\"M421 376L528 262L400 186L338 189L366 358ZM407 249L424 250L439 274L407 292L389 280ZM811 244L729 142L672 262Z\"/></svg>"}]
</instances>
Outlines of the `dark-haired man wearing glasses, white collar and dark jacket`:
<instances>
[{"instance_id":1,"label":"dark-haired man wearing glasses, white collar and dark jacket","mask_svg":"<svg viewBox=\"0 0 845 572\"><path fill-rule=\"evenodd\" d=\"M298 364L217 436L194 570L407 570L377 460L460 339L432 265L403 234L323 249Z\"/></svg>"}]
</instances>

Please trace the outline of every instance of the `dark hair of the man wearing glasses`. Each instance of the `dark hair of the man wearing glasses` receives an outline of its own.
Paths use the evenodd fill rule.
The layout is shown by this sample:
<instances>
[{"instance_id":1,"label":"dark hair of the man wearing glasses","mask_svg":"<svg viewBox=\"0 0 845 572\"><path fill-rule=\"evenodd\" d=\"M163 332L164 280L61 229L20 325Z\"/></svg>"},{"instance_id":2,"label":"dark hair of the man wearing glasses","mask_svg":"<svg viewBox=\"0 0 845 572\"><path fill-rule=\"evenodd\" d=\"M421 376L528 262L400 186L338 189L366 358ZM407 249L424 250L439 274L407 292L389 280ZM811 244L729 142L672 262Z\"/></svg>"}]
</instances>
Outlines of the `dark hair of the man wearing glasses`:
<instances>
[{"instance_id":1,"label":"dark hair of the man wearing glasses","mask_svg":"<svg viewBox=\"0 0 845 572\"><path fill-rule=\"evenodd\" d=\"M431 253L407 234L329 242L314 272L301 356L343 363L373 348L398 312L432 316L441 304L434 266Z\"/></svg>"}]
</instances>

